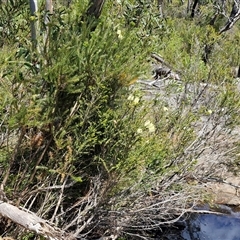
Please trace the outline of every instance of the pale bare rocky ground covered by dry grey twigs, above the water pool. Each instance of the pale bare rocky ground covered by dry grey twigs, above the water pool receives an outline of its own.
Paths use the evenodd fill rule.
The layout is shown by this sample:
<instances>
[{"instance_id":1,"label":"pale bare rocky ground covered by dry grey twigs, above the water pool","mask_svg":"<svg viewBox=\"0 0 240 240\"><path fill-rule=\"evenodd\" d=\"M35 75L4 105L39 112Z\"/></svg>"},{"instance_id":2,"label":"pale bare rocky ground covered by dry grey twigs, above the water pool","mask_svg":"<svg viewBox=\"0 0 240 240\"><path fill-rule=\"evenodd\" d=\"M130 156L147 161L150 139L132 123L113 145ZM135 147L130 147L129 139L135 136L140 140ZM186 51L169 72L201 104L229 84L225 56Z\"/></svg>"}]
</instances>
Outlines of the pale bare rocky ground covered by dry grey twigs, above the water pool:
<instances>
[{"instance_id":1,"label":"pale bare rocky ground covered by dry grey twigs, above the water pool","mask_svg":"<svg viewBox=\"0 0 240 240\"><path fill-rule=\"evenodd\" d=\"M205 185L213 203L240 206L240 177L235 177L229 168L237 158L240 127L229 127L229 110L218 103L219 91L227 91L224 84L217 86L204 81L195 83L171 78L169 65L164 65L167 66L167 76L160 72L154 76L155 80L139 80L138 88L143 90L144 99L157 98L159 102L166 103L168 109L182 109L183 115L199 109L205 111L193 123L196 139L186 149L185 157L197 160L193 176L199 185ZM163 67L158 70L163 70ZM239 86L239 79L236 79L236 90L240 90ZM182 107L186 100L191 107Z\"/></svg>"}]
</instances>

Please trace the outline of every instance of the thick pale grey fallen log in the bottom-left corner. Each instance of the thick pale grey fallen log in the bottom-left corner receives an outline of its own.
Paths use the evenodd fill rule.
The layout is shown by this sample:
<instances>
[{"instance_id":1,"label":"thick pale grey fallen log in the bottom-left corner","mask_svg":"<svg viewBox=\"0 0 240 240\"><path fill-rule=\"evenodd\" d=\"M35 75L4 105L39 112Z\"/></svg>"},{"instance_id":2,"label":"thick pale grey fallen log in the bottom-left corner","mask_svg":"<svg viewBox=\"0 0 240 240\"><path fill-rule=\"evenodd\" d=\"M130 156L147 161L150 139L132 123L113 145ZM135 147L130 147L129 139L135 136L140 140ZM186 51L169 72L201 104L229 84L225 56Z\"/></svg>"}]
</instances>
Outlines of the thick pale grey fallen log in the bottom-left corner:
<instances>
[{"instance_id":1,"label":"thick pale grey fallen log in the bottom-left corner","mask_svg":"<svg viewBox=\"0 0 240 240\"><path fill-rule=\"evenodd\" d=\"M34 213L21 210L7 202L0 201L0 215L49 240L76 239L72 234L68 234L50 225L46 220L38 217Z\"/></svg>"}]
</instances>

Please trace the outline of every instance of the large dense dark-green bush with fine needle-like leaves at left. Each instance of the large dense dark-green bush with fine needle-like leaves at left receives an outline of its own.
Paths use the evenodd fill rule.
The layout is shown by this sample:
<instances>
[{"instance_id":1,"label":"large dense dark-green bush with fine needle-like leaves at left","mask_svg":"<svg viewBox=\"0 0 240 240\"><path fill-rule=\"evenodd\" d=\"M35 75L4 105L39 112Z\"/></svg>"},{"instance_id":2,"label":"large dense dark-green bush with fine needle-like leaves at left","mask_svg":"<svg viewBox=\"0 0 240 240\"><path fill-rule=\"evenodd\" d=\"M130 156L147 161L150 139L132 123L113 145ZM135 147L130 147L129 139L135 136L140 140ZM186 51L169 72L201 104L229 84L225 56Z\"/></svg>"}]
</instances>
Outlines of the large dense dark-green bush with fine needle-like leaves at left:
<instances>
[{"instance_id":1,"label":"large dense dark-green bush with fine needle-like leaves at left","mask_svg":"<svg viewBox=\"0 0 240 240\"><path fill-rule=\"evenodd\" d=\"M7 151L16 171L7 185L12 194L47 174L59 175L60 182L68 176L88 181L101 172L109 178L138 140L141 105L124 99L128 86L146 72L150 49L142 51L145 40L107 15L93 32L86 23L79 32L78 17L56 10L47 42L38 39L39 52L19 36L20 47L1 56L2 127L14 138Z\"/></svg>"}]
</instances>

